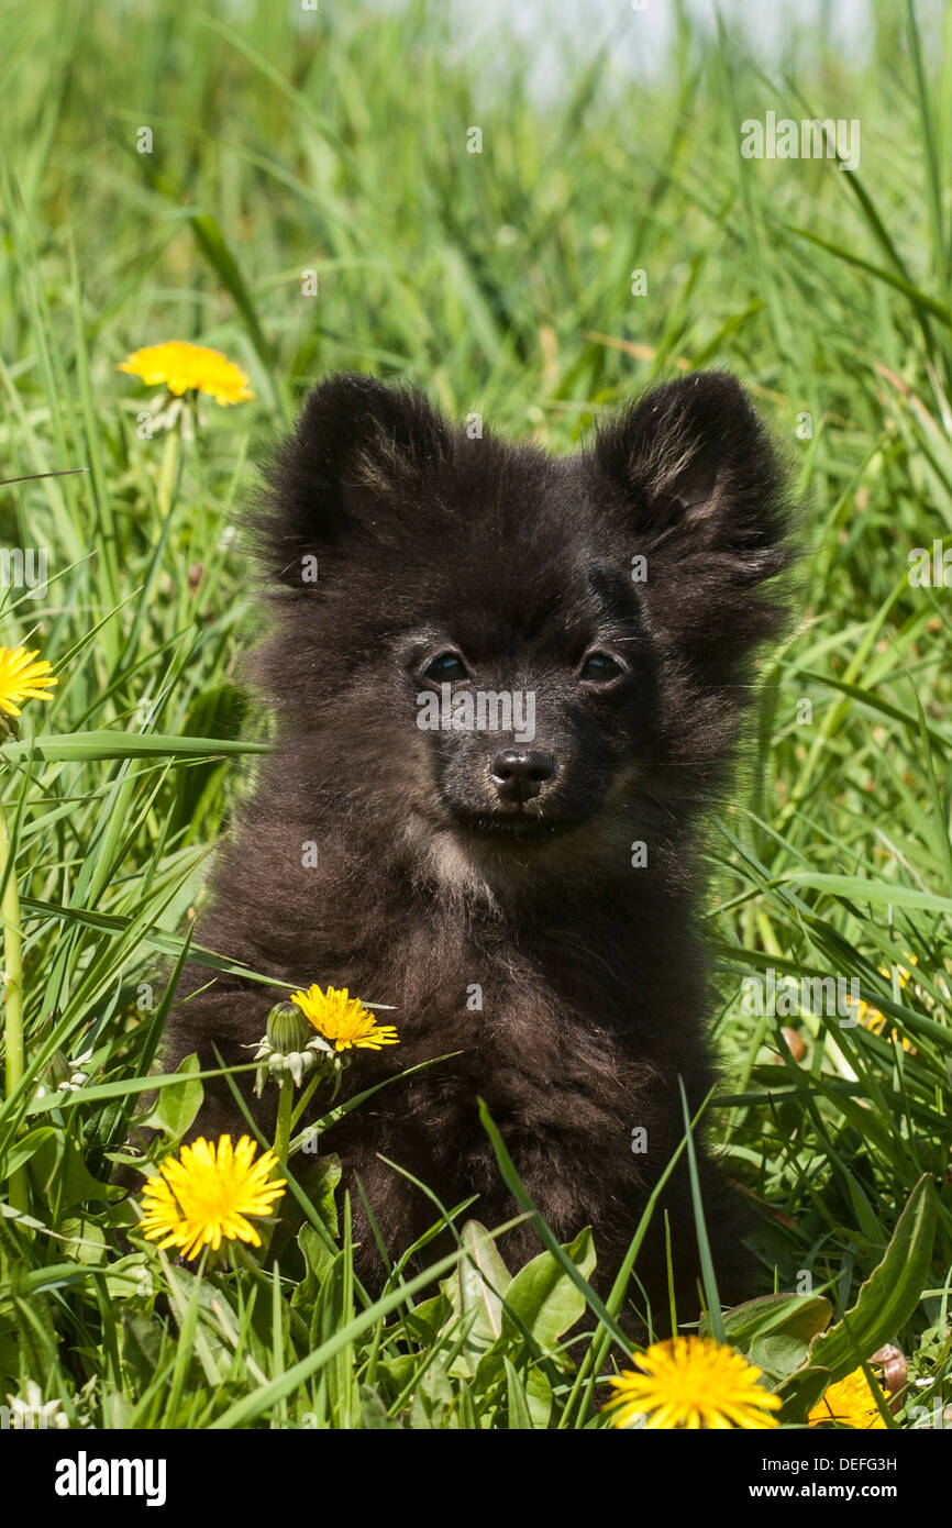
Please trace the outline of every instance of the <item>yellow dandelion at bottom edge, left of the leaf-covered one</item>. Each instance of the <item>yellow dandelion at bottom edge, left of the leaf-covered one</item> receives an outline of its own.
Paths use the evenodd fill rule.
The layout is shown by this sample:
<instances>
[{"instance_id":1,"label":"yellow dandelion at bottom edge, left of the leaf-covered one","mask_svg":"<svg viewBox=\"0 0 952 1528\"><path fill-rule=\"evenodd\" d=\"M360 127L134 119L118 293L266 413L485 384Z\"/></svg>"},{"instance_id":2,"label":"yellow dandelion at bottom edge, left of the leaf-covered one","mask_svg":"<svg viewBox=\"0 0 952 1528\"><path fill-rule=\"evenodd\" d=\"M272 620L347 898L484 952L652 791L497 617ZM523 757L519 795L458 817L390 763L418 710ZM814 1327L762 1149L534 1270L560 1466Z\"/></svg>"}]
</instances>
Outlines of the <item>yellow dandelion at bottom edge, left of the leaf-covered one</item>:
<instances>
[{"instance_id":1,"label":"yellow dandelion at bottom edge, left of the leaf-covered one","mask_svg":"<svg viewBox=\"0 0 952 1528\"><path fill-rule=\"evenodd\" d=\"M637 1369L611 1380L616 1427L639 1426L726 1430L776 1427L779 1395L759 1384L753 1365L711 1337L674 1337L633 1354Z\"/></svg>"}]
</instances>

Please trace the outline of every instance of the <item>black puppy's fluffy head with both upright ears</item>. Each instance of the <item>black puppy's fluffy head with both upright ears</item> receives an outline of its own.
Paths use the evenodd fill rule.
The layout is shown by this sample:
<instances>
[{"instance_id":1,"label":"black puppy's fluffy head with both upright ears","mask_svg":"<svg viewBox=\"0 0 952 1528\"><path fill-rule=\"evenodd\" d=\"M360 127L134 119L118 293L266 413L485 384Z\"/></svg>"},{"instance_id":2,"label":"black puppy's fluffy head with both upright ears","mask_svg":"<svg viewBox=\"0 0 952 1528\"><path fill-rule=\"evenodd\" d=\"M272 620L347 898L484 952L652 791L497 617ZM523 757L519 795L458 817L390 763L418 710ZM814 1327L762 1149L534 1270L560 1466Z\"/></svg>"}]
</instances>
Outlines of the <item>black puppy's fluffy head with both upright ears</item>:
<instances>
[{"instance_id":1,"label":"black puppy's fluffy head with both upright ears","mask_svg":"<svg viewBox=\"0 0 952 1528\"><path fill-rule=\"evenodd\" d=\"M559 460L336 376L269 483L264 681L355 825L524 863L717 785L785 561L733 379L660 387Z\"/></svg>"}]
</instances>

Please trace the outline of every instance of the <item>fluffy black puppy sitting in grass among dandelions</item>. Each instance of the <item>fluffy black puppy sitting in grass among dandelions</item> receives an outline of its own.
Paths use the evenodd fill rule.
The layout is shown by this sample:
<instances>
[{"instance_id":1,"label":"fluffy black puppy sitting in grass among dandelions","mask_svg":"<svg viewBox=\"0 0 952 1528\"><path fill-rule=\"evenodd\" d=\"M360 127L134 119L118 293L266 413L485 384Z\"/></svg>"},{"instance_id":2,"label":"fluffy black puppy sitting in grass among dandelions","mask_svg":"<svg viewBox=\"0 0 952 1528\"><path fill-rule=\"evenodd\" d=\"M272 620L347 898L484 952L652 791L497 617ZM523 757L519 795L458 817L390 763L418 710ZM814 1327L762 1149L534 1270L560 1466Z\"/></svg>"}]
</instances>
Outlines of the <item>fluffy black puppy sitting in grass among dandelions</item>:
<instances>
[{"instance_id":1,"label":"fluffy black puppy sitting in grass among dandelions","mask_svg":"<svg viewBox=\"0 0 952 1528\"><path fill-rule=\"evenodd\" d=\"M353 1091L458 1051L325 1137L393 1254L436 1215L382 1157L446 1206L478 1195L468 1213L487 1225L515 1213L483 1097L555 1233L593 1225L605 1276L683 1138L678 1077L692 1108L712 1086L698 813L726 781L752 651L781 620L782 478L720 373L657 388L564 460L469 439L417 393L335 376L278 451L258 526L275 634L257 666L277 750L197 937L283 981L393 1004L379 1018L400 1045L361 1054ZM303 581L310 555L316 584ZM532 798L494 782L510 735L420 730L417 695L442 674L454 694L535 692L530 747L555 775ZM318 866L304 868L312 840ZM212 1047L248 1062L278 996L219 976L177 1005L165 1063L197 1051L214 1067ZM211 1086L193 1134L240 1128L226 1085ZM701 1180L737 1290L737 1196L704 1154ZM663 1207L686 1299L686 1170ZM663 1309L662 1224L659 1212L637 1274ZM373 1287L377 1253L367 1225L359 1236ZM539 1244L526 1225L501 1250L518 1264Z\"/></svg>"}]
</instances>

